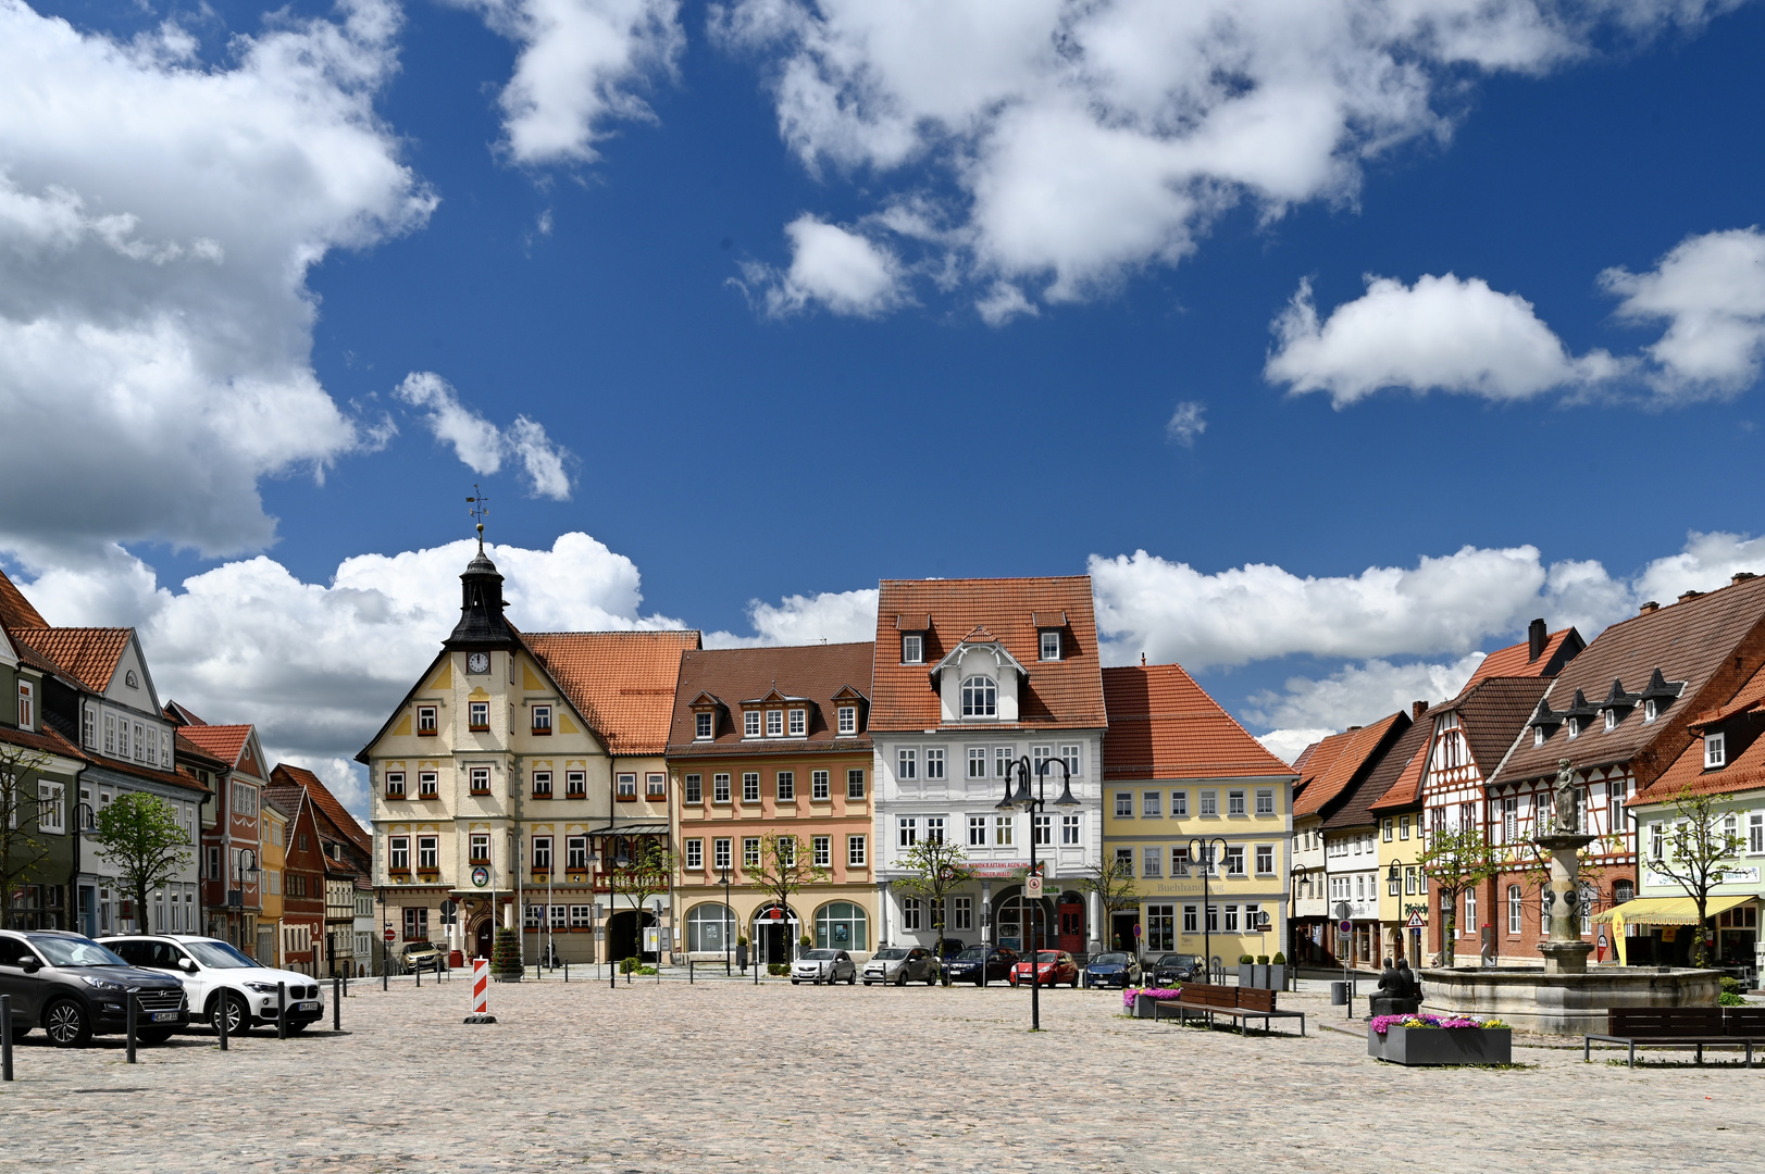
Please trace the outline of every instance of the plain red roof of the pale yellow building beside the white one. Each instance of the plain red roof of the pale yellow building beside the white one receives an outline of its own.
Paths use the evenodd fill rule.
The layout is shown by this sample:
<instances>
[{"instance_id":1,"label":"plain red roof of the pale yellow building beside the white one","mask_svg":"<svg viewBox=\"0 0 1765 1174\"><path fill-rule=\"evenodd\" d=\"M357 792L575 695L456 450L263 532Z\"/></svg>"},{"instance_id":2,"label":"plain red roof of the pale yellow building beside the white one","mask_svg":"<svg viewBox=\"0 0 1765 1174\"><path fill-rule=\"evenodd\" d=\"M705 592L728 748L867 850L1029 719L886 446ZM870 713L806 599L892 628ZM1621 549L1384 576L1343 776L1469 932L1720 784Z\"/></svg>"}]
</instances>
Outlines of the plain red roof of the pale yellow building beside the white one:
<instances>
[{"instance_id":1,"label":"plain red roof of the pale yellow building beside the white one","mask_svg":"<svg viewBox=\"0 0 1765 1174\"><path fill-rule=\"evenodd\" d=\"M1103 669L1103 779L1294 777L1183 666Z\"/></svg>"}]
</instances>

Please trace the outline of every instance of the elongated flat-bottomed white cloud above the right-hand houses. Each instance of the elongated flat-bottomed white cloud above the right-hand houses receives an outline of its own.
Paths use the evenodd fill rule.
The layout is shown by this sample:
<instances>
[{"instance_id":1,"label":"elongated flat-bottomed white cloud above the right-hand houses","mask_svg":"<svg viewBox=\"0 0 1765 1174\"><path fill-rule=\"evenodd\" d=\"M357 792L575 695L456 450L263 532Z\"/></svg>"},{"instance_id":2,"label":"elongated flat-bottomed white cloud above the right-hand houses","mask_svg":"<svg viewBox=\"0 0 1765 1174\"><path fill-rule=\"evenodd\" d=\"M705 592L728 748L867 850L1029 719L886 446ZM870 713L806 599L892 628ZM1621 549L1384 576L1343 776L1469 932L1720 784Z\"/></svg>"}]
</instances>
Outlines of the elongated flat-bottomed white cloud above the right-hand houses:
<instances>
[{"instance_id":1,"label":"elongated flat-bottomed white cloud above the right-hand houses","mask_svg":"<svg viewBox=\"0 0 1765 1174\"><path fill-rule=\"evenodd\" d=\"M1322 323L1311 284L1301 282L1274 334L1280 346L1264 376L1294 392L1329 392L1338 408L1384 387L1530 399L1622 369L1606 351L1571 357L1530 302L1453 274L1414 286L1368 277L1366 293Z\"/></svg>"}]
</instances>

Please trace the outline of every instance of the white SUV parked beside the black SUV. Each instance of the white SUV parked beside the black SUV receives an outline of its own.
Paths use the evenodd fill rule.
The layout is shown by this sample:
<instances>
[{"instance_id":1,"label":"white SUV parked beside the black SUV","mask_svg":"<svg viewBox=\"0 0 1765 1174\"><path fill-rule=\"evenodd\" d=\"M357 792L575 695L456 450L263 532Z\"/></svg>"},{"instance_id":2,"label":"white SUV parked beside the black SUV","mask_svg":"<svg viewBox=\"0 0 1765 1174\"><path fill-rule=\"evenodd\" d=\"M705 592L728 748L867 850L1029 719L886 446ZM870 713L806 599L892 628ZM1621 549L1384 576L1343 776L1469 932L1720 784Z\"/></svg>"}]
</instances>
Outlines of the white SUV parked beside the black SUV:
<instances>
[{"instance_id":1,"label":"white SUV parked beside the black SUV","mask_svg":"<svg viewBox=\"0 0 1765 1174\"><path fill-rule=\"evenodd\" d=\"M192 1013L221 1031L226 1015L228 1035L242 1035L256 1026L275 1024L275 983L288 987L288 1031L305 1031L325 1019L325 996L316 978L295 971L275 971L219 937L192 934L129 934L104 937L101 944L129 966L171 973L184 980Z\"/></svg>"}]
</instances>

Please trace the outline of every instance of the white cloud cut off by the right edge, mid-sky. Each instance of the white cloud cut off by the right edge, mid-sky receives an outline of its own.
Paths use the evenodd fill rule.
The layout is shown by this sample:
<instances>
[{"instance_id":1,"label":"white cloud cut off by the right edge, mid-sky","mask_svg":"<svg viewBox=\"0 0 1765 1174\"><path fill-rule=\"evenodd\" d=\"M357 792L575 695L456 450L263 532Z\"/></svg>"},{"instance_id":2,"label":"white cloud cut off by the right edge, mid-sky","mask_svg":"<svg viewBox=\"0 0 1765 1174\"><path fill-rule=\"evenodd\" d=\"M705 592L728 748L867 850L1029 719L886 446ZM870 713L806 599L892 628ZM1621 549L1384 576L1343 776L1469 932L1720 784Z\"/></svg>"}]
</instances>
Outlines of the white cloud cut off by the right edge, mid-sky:
<instances>
[{"instance_id":1,"label":"white cloud cut off by the right edge, mid-sky","mask_svg":"<svg viewBox=\"0 0 1765 1174\"><path fill-rule=\"evenodd\" d=\"M1765 233L1739 228L1687 237L1656 268L1608 268L1601 286L1622 297L1619 318L1666 321L1645 348L1650 383L1675 399L1731 395L1758 381L1765 351Z\"/></svg>"}]
</instances>

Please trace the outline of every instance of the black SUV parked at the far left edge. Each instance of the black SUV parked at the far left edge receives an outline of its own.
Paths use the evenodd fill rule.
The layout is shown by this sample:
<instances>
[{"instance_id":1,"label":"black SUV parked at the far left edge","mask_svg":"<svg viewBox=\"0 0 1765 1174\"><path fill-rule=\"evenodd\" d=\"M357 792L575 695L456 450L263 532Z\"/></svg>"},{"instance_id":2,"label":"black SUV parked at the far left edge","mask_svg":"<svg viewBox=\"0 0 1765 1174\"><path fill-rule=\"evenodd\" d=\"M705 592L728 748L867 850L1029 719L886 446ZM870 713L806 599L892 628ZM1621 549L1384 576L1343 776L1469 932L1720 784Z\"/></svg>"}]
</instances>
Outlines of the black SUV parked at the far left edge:
<instances>
[{"instance_id":1,"label":"black SUV parked at the far left edge","mask_svg":"<svg viewBox=\"0 0 1765 1174\"><path fill-rule=\"evenodd\" d=\"M136 969L99 943L65 930L0 930L0 994L12 996L12 1035L42 1027L56 1047L85 1047L95 1035L129 1029L136 999L136 1038L164 1043L191 1022L184 983Z\"/></svg>"}]
</instances>

